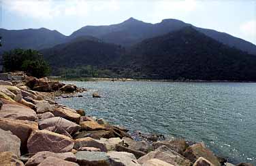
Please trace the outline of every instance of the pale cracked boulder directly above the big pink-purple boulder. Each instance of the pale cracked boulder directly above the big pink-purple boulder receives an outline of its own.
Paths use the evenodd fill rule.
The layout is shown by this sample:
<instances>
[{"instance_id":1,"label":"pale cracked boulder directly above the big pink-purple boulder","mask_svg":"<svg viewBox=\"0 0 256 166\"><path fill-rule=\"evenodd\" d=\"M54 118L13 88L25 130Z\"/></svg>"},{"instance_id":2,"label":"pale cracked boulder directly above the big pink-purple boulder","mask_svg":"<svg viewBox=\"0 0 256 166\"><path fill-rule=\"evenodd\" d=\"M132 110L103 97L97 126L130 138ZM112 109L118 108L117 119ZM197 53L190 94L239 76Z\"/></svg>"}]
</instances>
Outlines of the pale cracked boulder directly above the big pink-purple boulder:
<instances>
[{"instance_id":1,"label":"pale cracked boulder directly above the big pink-purple boulder","mask_svg":"<svg viewBox=\"0 0 256 166\"><path fill-rule=\"evenodd\" d=\"M73 133L79 131L81 127L80 125L61 117L52 117L39 121L39 129L55 131L57 128L65 129L65 131L72 135Z\"/></svg>"}]
</instances>

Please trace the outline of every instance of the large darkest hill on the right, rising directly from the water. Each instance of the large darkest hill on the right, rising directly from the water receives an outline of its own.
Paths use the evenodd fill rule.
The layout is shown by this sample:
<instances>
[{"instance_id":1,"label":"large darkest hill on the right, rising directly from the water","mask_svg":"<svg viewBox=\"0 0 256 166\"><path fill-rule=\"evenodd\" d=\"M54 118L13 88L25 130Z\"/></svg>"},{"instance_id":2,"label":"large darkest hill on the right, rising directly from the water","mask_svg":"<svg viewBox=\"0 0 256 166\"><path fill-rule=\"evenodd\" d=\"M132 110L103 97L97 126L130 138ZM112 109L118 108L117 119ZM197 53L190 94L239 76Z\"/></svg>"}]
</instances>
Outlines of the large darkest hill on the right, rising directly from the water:
<instances>
[{"instance_id":1,"label":"large darkest hill on the right, rising directly from the water","mask_svg":"<svg viewBox=\"0 0 256 166\"><path fill-rule=\"evenodd\" d=\"M192 26L146 39L119 62L133 77L256 81L256 56L223 45Z\"/></svg>"}]
</instances>

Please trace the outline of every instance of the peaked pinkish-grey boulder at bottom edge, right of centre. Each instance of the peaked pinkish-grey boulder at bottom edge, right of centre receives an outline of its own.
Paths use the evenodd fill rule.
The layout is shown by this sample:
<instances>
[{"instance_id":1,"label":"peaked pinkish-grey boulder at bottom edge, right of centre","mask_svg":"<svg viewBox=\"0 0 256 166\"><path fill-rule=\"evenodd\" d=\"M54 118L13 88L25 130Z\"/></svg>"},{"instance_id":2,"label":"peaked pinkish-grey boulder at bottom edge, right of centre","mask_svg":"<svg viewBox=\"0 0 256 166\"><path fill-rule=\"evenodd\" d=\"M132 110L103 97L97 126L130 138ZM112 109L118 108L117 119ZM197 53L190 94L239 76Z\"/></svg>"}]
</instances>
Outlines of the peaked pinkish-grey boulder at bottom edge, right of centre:
<instances>
[{"instance_id":1,"label":"peaked pinkish-grey boulder at bottom edge, right of centre","mask_svg":"<svg viewBox=\"0 0 256 166\"><path fill-rule=\"evenodd\" d=\"M157 148L157 150L149 152L145 156L140 157L140 159L138 159L138 162L142 164L150 159L159 159L161 161L165 161L166 163L170 163L172 165L177 166L191 165L191 162L188 159L182 157L182 155L178 154L178 152L175 152L174 150L167 148L167 146L161 146Z\"/></svg>"}]
</instances>

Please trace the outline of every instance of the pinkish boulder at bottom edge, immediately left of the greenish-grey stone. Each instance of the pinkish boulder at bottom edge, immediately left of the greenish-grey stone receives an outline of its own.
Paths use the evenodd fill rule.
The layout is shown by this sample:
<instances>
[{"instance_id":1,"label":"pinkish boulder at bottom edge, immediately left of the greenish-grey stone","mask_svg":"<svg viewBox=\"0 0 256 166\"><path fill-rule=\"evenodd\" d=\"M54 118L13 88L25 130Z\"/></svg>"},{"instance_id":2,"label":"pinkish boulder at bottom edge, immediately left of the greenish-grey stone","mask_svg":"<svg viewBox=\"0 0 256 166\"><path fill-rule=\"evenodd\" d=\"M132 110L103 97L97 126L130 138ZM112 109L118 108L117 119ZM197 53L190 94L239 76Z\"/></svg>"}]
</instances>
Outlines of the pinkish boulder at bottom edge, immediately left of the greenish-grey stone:
<instances>
[{"instance_id":1,"label":"pinkish boulder at bottom edge, immediately left of the greenish-grey stone","mask_svg":"<svg viewBox=\"0 0 256 166\"><path fill-rule=\"evenodd\" d=\"M37 152L27 162L26 166L36 166L48 157L57 157L61 160L76 162L76 156L71 152L54 153L49 151Z\"/></svg>"}]
</instances>

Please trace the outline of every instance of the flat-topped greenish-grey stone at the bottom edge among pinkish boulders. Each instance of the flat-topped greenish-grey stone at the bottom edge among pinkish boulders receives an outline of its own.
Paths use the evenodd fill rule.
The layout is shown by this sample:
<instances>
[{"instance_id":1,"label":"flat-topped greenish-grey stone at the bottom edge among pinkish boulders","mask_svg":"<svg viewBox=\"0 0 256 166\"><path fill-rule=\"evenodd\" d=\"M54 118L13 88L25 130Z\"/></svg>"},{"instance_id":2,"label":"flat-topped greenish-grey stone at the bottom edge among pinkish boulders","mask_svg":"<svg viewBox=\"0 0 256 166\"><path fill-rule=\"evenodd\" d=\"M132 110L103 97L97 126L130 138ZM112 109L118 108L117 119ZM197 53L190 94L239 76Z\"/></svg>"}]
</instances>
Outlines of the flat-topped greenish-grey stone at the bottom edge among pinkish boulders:
<instances>
[{"instance_id":1,"label":"flat-topped greenish-grey stone at the bottom edge among pinkish boulders","mask_svg":"<svg viewBox=\"0 0 256 166\"><path fill-rule=\"evenodd\" d=\"M76 159L79 165L110 166L110 158L106 152L80 151L76 153Z\"/></svg>"}]
</instances>

